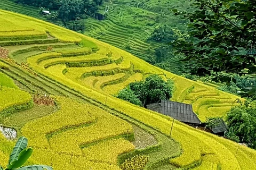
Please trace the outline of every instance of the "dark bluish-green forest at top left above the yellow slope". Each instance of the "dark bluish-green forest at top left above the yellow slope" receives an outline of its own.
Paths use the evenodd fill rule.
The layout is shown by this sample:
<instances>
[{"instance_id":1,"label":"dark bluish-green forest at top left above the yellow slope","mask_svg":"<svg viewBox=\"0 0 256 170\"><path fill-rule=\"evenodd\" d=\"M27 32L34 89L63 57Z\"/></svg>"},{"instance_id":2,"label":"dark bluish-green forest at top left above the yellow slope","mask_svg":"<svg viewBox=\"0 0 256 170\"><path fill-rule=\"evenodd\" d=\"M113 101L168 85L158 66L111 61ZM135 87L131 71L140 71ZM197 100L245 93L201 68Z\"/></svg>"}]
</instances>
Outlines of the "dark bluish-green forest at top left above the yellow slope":
<instances>
[{"instance_id":1,"label":"dark bluish-green forest at top left above the yellow slope","mask_svg":"<svg viewBox=\"0 0 256 170\"><path fill-rule=\"evenodd\" d=\"M49 20L60 19L65 27L75 31L84 31L84 20L97 14L102 0L14 0L15 3L36 6L43 10L51 10Z\"/></svg>"}]
</instances>

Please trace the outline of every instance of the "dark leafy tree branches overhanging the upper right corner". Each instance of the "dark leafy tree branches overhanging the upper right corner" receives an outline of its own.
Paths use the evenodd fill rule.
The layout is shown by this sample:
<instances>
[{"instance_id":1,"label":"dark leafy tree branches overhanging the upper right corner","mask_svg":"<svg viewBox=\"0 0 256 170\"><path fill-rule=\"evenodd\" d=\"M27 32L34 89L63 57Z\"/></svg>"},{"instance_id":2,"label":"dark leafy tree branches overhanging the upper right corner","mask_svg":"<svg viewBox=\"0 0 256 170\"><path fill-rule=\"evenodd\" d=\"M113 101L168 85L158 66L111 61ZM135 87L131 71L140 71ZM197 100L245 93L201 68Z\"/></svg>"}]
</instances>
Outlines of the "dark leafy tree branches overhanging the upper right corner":
<instances>
[{"instance_id":1,"label":"dark leafy tree branches overhanging the upper right corner","mask_svg":"<svg viewBox=\"0 0 256 170\"><path fill-rule=\"evenodd\" d=\"M221 82L234 80L230 74L256 73L256 1L191 2L193 11L173 10L190 21L189 38L171 43L175 54L185 57L189 72Z\"/></svg>"}]
</instances>

